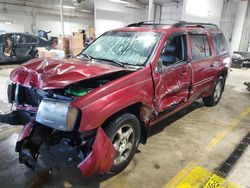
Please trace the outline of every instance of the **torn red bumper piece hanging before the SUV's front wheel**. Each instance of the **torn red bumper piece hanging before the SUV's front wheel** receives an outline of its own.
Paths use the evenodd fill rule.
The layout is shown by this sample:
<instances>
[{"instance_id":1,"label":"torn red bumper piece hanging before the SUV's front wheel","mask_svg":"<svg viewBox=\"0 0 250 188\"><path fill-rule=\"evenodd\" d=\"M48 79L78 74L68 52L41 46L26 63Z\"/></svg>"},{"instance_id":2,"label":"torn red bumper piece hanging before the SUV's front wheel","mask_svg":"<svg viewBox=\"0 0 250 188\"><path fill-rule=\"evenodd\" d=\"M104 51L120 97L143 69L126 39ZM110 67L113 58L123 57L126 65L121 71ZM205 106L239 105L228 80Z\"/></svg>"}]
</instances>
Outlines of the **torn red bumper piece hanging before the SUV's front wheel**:
<instances>
[{"instance_id":1,"label":"torn red bumper piece hanging before the SUV's front wheel","mask_svg":"<svg viewBox=\"0 0 250 188\"><path fill-rule=\"evenodd\" d=\"M115 148L100 127L92 145L92 152L78 165L78 168L83 176L91 176L95 172L105 173L110 170L115 156Z\"/></svg>"}]
</instances>

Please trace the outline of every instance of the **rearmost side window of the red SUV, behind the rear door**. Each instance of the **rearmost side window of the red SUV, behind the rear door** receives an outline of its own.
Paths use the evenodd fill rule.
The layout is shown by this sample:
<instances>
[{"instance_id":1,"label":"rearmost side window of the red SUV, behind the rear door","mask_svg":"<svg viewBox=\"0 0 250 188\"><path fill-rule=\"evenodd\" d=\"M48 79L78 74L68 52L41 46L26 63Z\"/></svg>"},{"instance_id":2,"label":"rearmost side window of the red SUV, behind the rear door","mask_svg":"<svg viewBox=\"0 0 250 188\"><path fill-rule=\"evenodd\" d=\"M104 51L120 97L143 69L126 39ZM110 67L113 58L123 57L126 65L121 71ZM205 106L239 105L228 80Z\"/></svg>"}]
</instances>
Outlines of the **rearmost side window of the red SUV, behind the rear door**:
<instances>
[{"instance_id":1,"label":"rearmost side window of the red SUV, behind the rear door","mask_svg":"<svg viewBox=\"0 0 250 188\"><path fill-rule=\"evenodd\" d=\"M211 33L211 37L214 43L216 55L222 54L227 51L226 40L222 33Z\"/></svg>"}]
</instances>

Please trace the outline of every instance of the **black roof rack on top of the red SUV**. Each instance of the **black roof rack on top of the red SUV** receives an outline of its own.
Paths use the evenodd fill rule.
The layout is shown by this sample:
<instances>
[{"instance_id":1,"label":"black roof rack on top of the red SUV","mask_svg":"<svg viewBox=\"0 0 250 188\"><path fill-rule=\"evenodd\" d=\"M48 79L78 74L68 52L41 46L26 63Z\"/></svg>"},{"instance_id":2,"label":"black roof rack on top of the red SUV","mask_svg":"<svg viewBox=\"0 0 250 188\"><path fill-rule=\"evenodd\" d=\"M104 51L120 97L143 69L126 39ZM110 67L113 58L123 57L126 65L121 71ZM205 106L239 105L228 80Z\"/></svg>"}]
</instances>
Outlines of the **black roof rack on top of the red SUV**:
<instances>
[{"instance_id":1,"label":"black roof rack on top of the red SUV","mask_svg":"<svg viewBox=\"0 0 250 188\"><path fill-rule=\"evenodd\" d=\"M167 26L171 24L165 23L156 23L154 21L143 21L137 22L127 25L127 27L142 27L142 26L152 26L156 28L157 26ZM217 25L212 23L198 23L198 22L186 22L186 21L179 21L175 24L172 24L173 27L181 28L181 27L201 27L204 29L219 29Z\"/></svg>"}]
</instances>

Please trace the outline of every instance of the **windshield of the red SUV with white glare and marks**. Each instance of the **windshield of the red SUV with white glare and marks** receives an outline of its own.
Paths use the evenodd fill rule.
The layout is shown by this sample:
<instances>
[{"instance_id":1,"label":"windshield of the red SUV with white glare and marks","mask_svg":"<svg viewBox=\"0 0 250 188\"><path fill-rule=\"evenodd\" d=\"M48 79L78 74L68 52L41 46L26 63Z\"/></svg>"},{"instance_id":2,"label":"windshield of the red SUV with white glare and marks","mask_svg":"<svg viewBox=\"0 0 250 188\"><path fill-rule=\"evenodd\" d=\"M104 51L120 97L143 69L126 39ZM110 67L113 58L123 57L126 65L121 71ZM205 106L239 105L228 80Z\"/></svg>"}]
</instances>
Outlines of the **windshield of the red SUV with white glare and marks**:
<instances>
[{"instance_id":1,"label":"windshield of the red SUV with white glare and marks","mask_svg":"<svg viewBox=\"0 0 250 188\"><path fill-rule=\"evenodd\" d=\"M143 65L160 36L161 33L154 32L111 31L95 40L81 54L124 65Z\"/></svg>"}]
</instances>

